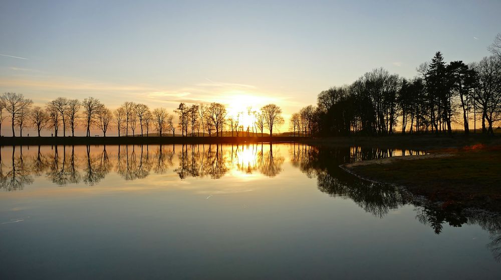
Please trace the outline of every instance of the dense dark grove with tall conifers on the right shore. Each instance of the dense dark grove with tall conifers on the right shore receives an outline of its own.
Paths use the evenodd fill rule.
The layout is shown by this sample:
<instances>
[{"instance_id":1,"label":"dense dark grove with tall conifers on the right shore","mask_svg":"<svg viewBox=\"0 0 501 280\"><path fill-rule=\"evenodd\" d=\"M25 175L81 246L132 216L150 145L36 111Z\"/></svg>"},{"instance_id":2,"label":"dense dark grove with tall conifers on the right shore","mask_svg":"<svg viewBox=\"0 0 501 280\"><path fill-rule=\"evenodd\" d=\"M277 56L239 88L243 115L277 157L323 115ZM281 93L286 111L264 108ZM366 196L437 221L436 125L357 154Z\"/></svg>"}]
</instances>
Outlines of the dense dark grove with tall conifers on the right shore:
<instances>
[{"instance_id":1,"label":"dense dark grove with tall conifers on the right shore","mask_svg":"<svg viewBox=\"0 0 501 280\"><path fill-rule=\"evenodd\" d=\"M441 52L416 68L412 79L383 68L365 73L351 85L322 91L316 106L306 106L290 119L294 135L391 135L452 133L452 125L481 121L493 134L501 120L501 33L479 62L445 63Z\"/></svg>"}]
</instances>

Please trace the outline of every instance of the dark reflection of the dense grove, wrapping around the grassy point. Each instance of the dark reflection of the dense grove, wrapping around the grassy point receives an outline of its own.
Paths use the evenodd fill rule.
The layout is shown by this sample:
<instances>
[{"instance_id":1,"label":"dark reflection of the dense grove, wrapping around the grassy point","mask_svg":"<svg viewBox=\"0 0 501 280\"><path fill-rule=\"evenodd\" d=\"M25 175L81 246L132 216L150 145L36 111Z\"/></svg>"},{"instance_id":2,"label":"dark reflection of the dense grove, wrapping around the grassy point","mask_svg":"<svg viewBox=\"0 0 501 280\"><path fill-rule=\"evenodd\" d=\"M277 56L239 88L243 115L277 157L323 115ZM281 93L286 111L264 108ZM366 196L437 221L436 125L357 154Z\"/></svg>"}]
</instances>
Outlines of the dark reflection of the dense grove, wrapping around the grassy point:
<instances>
[{"instance_id":1,"label":"dark reflection of the dense grove, wrapping around the grassy point","mask_svg":"<svg viewBox=\"0 0 501 280\"><path fill-rule=\"evenodd\" d=\"M391 209L404 204L415 206L416 218L429 225L436 234L440 234L443 225L460 227L463 224L479 224L490 235L488 247L494 258L501 261L501 216L486 212L461 211L446 209L426 199L417 199L401 188L365 181L346 172L339 166L359 160L385 158L396 155L421 154L405 150L378 150L374 148L317 148L304 144L294 144L291 149L291 161L307 176L317 178L320 191L331 196L352 199L365 211L377 217L383 217Z\"/></svg>"}]
</instances>

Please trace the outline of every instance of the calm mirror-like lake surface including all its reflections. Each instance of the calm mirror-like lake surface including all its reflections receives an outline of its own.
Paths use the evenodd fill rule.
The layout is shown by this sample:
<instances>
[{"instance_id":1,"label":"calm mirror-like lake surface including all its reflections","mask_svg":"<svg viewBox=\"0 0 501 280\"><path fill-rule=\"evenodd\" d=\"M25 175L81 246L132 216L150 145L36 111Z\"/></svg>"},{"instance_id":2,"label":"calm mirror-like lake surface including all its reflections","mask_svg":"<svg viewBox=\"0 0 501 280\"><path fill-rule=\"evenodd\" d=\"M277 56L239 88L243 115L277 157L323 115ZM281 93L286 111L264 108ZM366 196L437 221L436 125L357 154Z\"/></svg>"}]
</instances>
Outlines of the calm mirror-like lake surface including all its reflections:
<instances>
[{"instance_id":1,"label":"calm mirror-like lake surface including all its reflections","mask_svg":"<svg viewBox=\"0 0 501 280\"><path fill-rule=\"evenodd\" d=\"M500 279L500 218L446 213L338 167L409 153L2 147L0 279Z\"/></svg>"}]
</instances>

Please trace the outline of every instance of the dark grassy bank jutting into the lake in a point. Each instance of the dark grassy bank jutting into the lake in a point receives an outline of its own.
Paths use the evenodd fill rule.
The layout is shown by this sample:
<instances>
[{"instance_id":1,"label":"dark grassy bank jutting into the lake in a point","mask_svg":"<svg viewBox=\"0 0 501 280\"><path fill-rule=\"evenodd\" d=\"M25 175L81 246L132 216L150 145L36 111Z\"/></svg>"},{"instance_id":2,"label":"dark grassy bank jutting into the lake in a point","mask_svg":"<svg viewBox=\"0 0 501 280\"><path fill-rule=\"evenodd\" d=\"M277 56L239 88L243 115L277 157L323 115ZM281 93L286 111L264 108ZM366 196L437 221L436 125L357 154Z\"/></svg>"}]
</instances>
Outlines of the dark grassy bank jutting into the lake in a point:
<instances>
[{"instance_id":1,"label":"dark grassy bank jutting into the lake in a point","mask_svg":"<svg viewBox=\"0 0 501 280\"><path fill-rule=\"evenodd\" d=\"M497 145L496 145L497 144ZM432 150L430 155L347 164L362 178L404 186L443 208L501 211L501 145L475 144Z\"/></svg>"}]
</instances>

